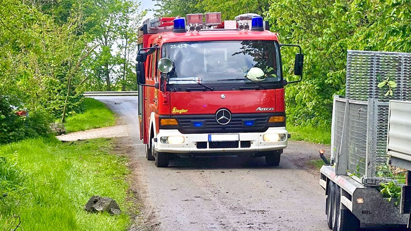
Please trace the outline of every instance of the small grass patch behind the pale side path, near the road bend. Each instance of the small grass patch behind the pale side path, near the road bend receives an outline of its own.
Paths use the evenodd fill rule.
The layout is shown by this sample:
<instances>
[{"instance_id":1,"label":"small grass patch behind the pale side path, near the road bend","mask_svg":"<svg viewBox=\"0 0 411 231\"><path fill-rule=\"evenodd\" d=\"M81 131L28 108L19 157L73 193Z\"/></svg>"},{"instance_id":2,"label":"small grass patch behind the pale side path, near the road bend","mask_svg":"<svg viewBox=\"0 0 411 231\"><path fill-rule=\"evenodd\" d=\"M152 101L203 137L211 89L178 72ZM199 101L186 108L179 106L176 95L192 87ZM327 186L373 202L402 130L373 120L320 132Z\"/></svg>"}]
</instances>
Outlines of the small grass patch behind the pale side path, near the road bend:
<instances>
[{"instance_id":1,"label":"small grass patch behind the pale side path, near the road bend","mask_svg":"<svg viewBox=\"0 0 411 231\"><path fill-rule=\"evenodd\" d=\"M116 123L114 113L102 102L84 98L82 103L84 112L70 115L64 124L67 132L83 131L92 128L113 126Z\"/></svg>"}]
</instances>

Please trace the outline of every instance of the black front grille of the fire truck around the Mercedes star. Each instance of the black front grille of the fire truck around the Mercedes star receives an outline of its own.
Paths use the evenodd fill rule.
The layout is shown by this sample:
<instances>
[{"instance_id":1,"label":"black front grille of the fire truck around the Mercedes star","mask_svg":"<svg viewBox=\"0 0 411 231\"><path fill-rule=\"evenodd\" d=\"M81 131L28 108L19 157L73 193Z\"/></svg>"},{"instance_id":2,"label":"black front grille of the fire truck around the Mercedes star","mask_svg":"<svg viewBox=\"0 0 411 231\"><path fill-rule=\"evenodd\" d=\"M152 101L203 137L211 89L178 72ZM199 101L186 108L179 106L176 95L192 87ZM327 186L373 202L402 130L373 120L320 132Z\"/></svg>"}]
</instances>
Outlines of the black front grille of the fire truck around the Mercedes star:
<instances>
[{"instance_id":1,"label":"black front grille of the fire truck around the Mercedes star","mask_svg":"<svg viewBox=\"0 0 411 231\"><path fill-rule=\"evenodd\" d=\"M178 121L178 126L160 126L160 129L178 129L183 134L265 132L268 127L285 126L285 123L268 123L270 117L274 115L284 115L284 112L232 114L231 121L226 125L219 124L215 119L215 114L172 115L168 118L175 118ZM254 120L254 126L244 125L245 120ZM203 126L193 127L193 122L198 121L201 121Z\"/></svg>"}]
</instances>

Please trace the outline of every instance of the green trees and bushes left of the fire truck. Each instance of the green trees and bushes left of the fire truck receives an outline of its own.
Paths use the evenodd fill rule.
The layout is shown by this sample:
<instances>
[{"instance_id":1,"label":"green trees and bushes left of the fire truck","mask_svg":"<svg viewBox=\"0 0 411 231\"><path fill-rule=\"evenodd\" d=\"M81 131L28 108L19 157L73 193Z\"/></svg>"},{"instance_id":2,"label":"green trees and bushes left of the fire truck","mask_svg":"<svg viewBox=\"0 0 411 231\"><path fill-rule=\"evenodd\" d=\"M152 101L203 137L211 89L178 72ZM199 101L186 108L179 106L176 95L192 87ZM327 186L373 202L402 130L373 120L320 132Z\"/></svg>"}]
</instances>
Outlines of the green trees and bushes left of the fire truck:
<instances>
[{"instance_id":1,"label":"green trees and bushes left of the fire truck","mask_svg":"<svg viewBox=\"0 0 411 231\"><path fill-rule=\"evenodd\" d=\"M0 143L43 133L40 114L52 122L80 112L82 92L96 82L136 89L138 7L132 0L0 1L0 98L18 99L10 104L30 113L17 119L1 108Z\"/></svg>"}]
</instances>

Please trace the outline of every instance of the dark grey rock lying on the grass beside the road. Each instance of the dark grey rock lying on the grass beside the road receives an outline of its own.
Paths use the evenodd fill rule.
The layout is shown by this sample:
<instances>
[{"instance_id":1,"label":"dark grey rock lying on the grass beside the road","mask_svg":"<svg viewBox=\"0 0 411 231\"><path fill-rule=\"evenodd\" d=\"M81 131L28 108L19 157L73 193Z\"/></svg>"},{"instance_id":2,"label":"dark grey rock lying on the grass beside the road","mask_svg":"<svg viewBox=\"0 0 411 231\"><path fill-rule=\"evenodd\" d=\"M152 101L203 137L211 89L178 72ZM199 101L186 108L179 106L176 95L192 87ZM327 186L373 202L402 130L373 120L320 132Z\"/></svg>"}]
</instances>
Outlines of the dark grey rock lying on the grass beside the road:
<instances>
[{"instance_id":1,"label":"dark grey rock lying on the grass beside the road","mask_svg":"<svg viewBox=\"0 0 411 231\"><path fill-rule=\"evenodd\" d=\"M89 213L106 211L109 214L120 215L121 209L117 202L109 197L92 196L84 206Z\"/></svg>"}]
</instances>

